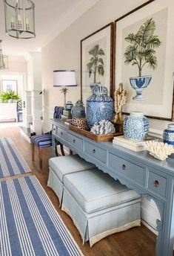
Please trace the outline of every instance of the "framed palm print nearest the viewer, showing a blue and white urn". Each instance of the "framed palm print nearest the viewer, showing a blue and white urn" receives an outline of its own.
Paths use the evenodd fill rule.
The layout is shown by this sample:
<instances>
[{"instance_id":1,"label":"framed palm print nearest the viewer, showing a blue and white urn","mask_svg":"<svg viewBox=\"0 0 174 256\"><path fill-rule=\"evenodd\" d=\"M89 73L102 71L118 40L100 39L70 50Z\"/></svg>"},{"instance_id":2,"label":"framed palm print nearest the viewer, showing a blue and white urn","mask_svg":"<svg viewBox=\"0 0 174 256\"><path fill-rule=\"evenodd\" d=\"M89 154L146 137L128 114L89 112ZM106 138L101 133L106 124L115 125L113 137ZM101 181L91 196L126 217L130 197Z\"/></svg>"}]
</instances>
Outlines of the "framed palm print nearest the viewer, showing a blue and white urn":
<instances>
[{"instance_id":1,"label":"framed palm print nearest the viewer, showing a blue and white urn","mask_svg":"<svg viewBox=\"0 0 174 256\"><path fill-rule=\"evenodd\" d=\"M115 22L115 83L127 90L125 114L174 120L173 10L173 0L151 0Z\"/></svg>"}]
</instances>

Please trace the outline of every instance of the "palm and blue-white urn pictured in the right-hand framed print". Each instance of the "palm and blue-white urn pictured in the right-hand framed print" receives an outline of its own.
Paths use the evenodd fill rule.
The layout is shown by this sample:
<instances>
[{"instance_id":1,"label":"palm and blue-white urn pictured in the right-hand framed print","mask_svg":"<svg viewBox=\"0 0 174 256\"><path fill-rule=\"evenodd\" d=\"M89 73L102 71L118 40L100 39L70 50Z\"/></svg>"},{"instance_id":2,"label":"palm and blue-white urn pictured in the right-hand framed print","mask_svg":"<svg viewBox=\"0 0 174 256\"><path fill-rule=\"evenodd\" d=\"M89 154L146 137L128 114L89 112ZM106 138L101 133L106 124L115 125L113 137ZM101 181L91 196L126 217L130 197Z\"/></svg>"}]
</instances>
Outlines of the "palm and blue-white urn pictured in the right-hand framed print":
<instances>
[{"instance_id":1,"label":"palm and blue-white urn pictured in the right-hand framed print","mask_svg":"<svg viewBox=\"0 0 174 256\"><path fill-rule=\"evenodd\" d=\"M125 40L130 43L124 52L124 63L137 65L138 77L130 77L130 84L135 89L136 95L133 100L142 100L142 90L146 88L152 79L152 75L142 76L145 66L155 70L158 60L155 49L161 45L161 41L155 33L155 21L147 19L141 25L137 33L130 33Z\"/></svg>"}]
</instances>

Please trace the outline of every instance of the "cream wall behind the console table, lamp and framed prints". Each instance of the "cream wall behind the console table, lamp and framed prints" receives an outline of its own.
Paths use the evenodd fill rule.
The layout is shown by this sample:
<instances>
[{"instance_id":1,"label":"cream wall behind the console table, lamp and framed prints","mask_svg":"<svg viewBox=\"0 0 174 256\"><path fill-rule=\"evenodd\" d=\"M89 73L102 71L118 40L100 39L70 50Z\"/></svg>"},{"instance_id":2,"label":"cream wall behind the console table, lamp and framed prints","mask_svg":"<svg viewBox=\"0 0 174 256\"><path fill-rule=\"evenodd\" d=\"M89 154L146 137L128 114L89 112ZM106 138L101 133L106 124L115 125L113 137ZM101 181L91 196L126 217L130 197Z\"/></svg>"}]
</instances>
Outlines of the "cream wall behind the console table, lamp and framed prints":
<instances>
[{"instance_id":1,"label":"cream wall behind the console table, lamp and framed prints","mask_svg":"<svg viewBox=\"0 0 174 256\"><path fill-rule=\"evenodd\" d=\"M118 17L144 2L146 1L100 0L42 49L45 130L50 129L49 118L53 117L54 106L63 106L64 103L64 97L59 89L53 87L53 70L58 68L76 70L78 86L70 88L67 93L67 100L72 100L75 103L80 98L80 40L104 25L114 22ZM159 135L167 127L167 123L166 121L150 120L153 132L157 132ZM155 227L155 217L158 217L158 211L153 202L142 200L142 216Z\"/></svg>"}]
</instances>

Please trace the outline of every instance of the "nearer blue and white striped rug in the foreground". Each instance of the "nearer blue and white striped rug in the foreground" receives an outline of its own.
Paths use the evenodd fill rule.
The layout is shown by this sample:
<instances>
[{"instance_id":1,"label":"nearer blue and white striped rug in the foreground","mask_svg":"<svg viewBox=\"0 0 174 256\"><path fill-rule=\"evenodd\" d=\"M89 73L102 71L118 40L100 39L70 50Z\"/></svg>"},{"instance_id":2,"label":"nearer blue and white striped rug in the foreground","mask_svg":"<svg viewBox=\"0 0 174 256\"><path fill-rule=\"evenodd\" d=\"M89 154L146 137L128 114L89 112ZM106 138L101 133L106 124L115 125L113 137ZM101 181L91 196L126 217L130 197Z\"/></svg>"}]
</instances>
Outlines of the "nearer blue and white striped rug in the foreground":
<instances>
[{"instance_id":1,"label":"nearer blue and white striped rug in the foreground","mask_svg":"<svg viewBox=\"0 0 174 256\"><path fill-rule=\"evenodd\" d=\"M36 176L0 182L0 255L82 255Z\"/></svg>"}]
</instances>

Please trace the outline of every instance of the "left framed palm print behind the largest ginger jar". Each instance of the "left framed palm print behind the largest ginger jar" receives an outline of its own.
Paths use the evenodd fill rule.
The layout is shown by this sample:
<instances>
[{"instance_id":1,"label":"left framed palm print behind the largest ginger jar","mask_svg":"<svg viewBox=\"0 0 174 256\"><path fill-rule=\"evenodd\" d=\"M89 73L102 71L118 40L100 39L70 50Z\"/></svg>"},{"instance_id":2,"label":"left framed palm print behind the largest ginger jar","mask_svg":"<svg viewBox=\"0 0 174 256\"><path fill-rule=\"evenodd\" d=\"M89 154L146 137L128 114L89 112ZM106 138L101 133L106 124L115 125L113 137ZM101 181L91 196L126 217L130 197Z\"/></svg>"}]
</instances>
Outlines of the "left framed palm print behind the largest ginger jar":
<instances>
[{"instance_id":1,"label":"left framed palm print behind the largest ginger jar","mask_svg":"<svg viewBox=\"0 0 174 256\"><path fill-rule=\"evenodd\" d=\"M100 83L113 96L113 22L81 39L81 99L91 95L90 84Z\"/></svg>"}]
</instances>

